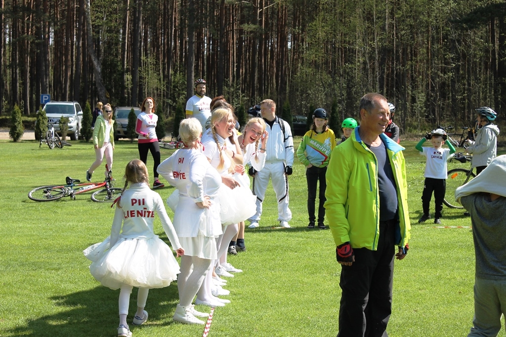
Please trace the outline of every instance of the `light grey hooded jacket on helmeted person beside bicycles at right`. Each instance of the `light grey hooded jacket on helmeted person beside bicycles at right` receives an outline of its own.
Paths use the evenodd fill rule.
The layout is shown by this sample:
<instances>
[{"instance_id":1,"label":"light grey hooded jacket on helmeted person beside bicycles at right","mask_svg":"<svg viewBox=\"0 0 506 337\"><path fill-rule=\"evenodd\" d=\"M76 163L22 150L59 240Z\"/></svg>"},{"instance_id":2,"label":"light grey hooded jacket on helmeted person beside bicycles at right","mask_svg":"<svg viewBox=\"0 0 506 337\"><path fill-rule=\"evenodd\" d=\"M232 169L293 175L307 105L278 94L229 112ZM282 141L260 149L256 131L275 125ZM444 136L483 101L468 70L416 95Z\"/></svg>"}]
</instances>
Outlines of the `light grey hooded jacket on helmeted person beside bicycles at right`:
<instances>
[{"instance_id":1,"label":"light grey hooded jacket on helmeted person beside bicycles at right","mask_svg":"<svg viewBox=\"0 0 506 337\"><path fill-rule=\"evenodd\" d=\"M488 166L497 154L497 135L499 128L497 125L488 123L478 130L476 141L466 149L468 153L473 154L473 167Z\"/></svg>"}]
</instances>

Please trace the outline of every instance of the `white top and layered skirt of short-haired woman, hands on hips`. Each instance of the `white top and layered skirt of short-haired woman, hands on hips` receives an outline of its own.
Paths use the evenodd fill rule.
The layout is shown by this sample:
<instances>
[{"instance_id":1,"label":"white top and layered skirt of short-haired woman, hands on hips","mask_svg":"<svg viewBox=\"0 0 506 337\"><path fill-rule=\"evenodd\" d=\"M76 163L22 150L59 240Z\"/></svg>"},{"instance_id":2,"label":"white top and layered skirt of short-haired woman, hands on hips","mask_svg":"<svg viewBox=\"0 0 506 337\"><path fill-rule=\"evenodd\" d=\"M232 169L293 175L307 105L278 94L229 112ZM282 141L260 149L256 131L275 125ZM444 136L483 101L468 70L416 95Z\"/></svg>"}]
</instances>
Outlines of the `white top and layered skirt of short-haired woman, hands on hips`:
<instances>
[{"instance_id":1,"label":"white top and layered skirt of short-haired woman, hands on hips","mask_svg":"<svg viewBox=\"0 0 506 337\"><path fill-rule=\"evenodd\" d=\"M173 200L174 228L185 255L203 259L216 259L215 237L222 234L218 190L221 177L199 150L177 150L157 169L176 190L167 203ZM197 202L209 197L211 206L200 208Z\"/></svg>"}]
</instances>

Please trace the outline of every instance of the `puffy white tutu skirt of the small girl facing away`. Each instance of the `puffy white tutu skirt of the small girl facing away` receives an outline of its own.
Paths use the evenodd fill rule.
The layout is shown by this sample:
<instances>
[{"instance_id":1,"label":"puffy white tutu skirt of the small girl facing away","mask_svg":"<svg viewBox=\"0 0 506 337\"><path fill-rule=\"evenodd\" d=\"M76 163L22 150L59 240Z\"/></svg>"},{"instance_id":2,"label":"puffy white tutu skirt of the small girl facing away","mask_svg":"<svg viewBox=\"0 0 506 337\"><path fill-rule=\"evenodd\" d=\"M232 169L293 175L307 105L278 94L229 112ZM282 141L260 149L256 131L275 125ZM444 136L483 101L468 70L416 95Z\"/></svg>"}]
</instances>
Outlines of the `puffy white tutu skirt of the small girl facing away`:
<instances>
[{"instance_id":1,"label":"puffy white tutu skirt of the small girl facing away","mask_svg":"<svg viewBox=\"0 0 506 337\"><path fill-rule=\"evenodd\" d=\"M179 274L179 264L158 236L149 239L119 237L110 248L110 237L88 247L83 254L92 261L90 272L102 285L116 290L121 285L162 288Z\"/></svg>"}]
</instances>

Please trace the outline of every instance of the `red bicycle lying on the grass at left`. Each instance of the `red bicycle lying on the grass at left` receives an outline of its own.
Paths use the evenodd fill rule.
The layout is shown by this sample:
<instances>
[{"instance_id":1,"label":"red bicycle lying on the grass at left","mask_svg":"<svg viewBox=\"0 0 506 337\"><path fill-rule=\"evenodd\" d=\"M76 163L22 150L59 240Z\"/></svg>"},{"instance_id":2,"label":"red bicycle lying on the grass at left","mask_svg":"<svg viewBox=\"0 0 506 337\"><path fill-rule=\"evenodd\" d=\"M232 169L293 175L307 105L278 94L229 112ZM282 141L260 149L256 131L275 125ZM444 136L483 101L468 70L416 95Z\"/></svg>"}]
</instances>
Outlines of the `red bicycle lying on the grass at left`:
<instances>
[{"instance_id":1,"label":"red bicycle lying on the grass at left","mask_svg":"<svg viewBox=\"0 0 506 337\"><path fill-rule=\"evenodd\" d=\"M107 169L107 166L106 166ZM102 182L79 183L80 180L66 177L66 185L40 186L32 189L28 193L28 198L33 201L54 201L63 197L70 197L75 200L75 196L100 189L91 196L92 200L98 203L112 203L121 195L122 188L112 187L115 179L112 178L112 172L107 171L107 177Z\"/></svg>"}]
</instances>

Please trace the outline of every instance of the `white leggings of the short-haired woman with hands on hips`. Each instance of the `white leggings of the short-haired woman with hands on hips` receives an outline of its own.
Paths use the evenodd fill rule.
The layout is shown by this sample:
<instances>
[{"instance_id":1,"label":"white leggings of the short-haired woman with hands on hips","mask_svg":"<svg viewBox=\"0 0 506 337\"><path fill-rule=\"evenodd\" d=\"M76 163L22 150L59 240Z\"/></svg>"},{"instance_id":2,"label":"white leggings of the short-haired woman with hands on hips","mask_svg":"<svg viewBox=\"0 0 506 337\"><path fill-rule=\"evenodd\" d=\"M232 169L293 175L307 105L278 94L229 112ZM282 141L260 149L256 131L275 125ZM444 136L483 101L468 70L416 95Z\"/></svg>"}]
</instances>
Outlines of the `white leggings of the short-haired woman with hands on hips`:
<instances>
[{"instance_id":1,"label":"white leggings of the short-haired woman with hands on hips","mask_svg":"<svg viewBox=\"0 0 506 337\"><path fill-rule=\"evenodd\" d=\"M193 266L193 271L192 271ZM178 275L179 304L189 306L197 294L204 278L211 268L211 260L196 256L183 255L181 257L180 273Z\"/></svg>"}]
</instances>

